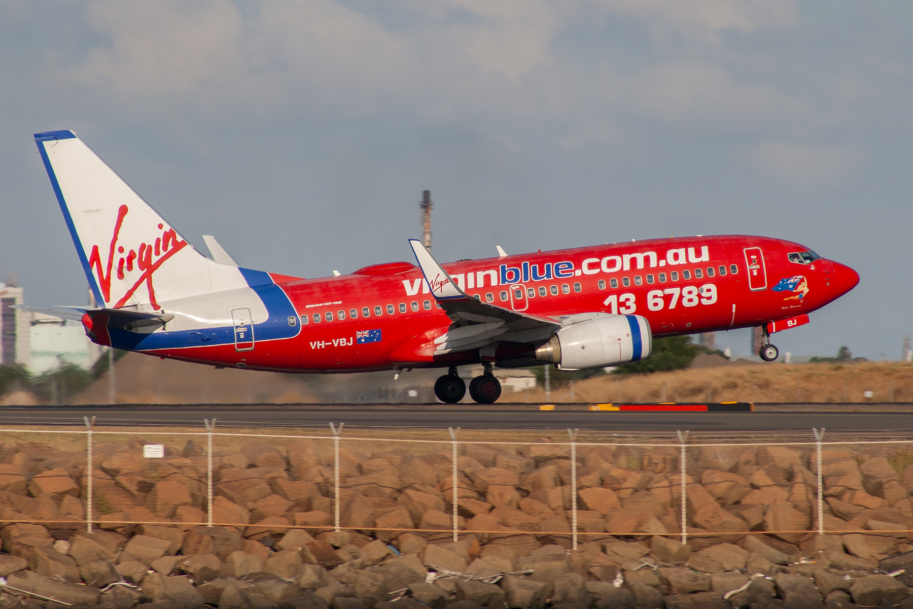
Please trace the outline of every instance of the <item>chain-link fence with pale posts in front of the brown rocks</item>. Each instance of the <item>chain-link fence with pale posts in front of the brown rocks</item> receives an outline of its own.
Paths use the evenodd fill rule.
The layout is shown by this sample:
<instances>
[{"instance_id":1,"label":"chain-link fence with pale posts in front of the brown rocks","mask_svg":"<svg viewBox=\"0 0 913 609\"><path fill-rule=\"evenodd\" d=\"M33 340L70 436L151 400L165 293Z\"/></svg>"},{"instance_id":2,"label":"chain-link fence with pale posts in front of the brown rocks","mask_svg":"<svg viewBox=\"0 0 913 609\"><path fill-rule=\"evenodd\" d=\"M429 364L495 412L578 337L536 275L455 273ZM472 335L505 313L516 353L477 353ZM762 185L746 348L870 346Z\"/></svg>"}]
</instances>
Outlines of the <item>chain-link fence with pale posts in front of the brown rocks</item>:
<instances>
[{"instance_id":1,"label":"chain-link fence with pale posts in front of the brown rocks","mask_svg":"<svg viewBox=\"0 0 913 609\"><path fill-rule=\"evenodd\" d=\"M518 553L618 536L913 542L913 438L653 439L577 430L0 430L0 526L350 530ZM607 441L610 440L610 441ZM904 546L906 549L907 546Z\"/></svg>"}]
</instances>

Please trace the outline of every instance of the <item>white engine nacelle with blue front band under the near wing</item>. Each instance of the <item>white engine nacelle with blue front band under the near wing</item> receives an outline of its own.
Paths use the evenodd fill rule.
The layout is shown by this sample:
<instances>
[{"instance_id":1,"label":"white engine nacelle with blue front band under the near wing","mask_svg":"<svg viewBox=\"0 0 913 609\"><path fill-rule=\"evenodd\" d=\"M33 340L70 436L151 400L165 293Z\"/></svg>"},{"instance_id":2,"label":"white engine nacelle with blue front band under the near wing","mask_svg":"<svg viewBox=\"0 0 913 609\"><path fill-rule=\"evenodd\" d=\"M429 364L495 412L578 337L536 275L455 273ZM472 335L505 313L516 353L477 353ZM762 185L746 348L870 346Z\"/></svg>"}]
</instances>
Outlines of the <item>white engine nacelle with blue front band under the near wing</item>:
<instances>
[{"instance_id":1,"label":"white engine nacelle with blue front band under the near wing","mask_svg":"<svg viewBox=\"0 0 913 609\"><path fill-rule=\"evenodd\" d=\"M653 334L644 317L597 313L562 327L536 350L536 360L556 363L561 370L582 370L637 362L652 350Z\"/></svg>"}]
</instances>

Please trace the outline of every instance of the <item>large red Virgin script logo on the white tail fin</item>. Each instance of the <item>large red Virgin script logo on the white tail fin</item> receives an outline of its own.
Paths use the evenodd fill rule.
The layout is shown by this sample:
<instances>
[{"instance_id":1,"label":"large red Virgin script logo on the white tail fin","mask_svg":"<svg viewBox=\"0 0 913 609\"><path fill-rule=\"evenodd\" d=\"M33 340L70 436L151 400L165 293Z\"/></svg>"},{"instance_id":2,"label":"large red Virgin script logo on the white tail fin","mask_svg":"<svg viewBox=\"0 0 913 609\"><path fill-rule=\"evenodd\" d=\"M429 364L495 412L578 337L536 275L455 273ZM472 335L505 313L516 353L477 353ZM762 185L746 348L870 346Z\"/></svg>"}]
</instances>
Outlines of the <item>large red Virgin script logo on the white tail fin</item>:
<instances>
[{"instance_id":1,"label":"large red Virgin script logo on the white tail fin","mask_svg":"<svg viewBox=\"0 0 913 609\"><path fill-rule=\"evenodd\" d=\"M89 254L89 267L95 271L98 277L101 297L107 305L111 300L111 271L114 266L114 258L118 258L115 272L117 273L117 278L121 280L133 273L135 263L135 268L142 271L142 273L133 282L131 288L124 292L123 296L114 303L113 308L121 308L144 282L146 289L149 290L149 302L153 308L159 309L159 303L155 300L155 289L152 286L152 274L162 266L165 260L184 249L187 242L179 240L173 228L164 229L164 225L160 223L158 228L163 230L162 236L155 237L155 241L152 244L143 242L140 247L135 249L119 245L118 238L121 235L121 227L123 226L124 218L127 217L129 212L130 208L127 205L121 205L120 209L118 209L117 222L114 223L114 233L111 236L108 248L107 263L102 266L99 247L95 245L92 246L92 251ZM117 250L116 253L115 250Z\"/></svg>"}]
</instances>

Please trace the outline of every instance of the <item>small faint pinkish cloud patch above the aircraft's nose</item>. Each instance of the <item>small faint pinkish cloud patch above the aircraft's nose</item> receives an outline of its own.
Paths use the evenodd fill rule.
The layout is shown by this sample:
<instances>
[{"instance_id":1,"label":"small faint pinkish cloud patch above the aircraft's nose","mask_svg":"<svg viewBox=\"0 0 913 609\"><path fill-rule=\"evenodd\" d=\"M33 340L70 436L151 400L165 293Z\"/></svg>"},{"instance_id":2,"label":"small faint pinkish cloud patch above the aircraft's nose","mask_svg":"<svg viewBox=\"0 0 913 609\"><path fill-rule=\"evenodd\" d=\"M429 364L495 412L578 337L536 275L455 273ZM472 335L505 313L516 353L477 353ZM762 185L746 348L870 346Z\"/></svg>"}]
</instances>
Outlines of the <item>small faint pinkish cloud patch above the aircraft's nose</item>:
<instances>
[{"instance_id":1,"label":"small faint pinkish cloud patch above the aircraft's nose","mask_svg":"<svg viewBox=\"0 0 913 609\"><path fill-rule=\"evenodd\" d=\"M845 179L858 168L863 154L849 146L766 142L742 151L741 157L760 173L802 186L822 186Z\"/></svg>"}]
</instances>

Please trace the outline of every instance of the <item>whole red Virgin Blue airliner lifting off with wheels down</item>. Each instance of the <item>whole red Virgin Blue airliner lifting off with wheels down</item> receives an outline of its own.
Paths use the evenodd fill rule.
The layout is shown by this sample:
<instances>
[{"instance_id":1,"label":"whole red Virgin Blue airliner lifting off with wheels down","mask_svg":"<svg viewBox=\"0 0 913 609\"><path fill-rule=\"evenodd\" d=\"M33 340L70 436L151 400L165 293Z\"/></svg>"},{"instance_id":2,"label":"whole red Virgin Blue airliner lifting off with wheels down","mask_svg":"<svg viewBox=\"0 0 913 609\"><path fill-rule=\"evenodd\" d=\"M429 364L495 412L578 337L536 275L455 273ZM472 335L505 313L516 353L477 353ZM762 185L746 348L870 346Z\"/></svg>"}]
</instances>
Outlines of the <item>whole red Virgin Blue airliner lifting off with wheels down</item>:
<instances>
[{"instance_id":1,"label":"whole red Virgin Blue airliner lifting off with wheels down","mask_svg":"<svg viewBox=\"0 0 913 609\"><path fill-rule=\"evenodd\" d=\"M92 341L216 367L286 373L448 368L495 402L501 367L603 368L649 357L654 336L758 327L770 334L853 289L856 272L792 241L694 236L305 279L240 268L210 236L200 254L72 131L35 136L98 308L31 308L81 320Z\"/></svg>"}]
</instances>

